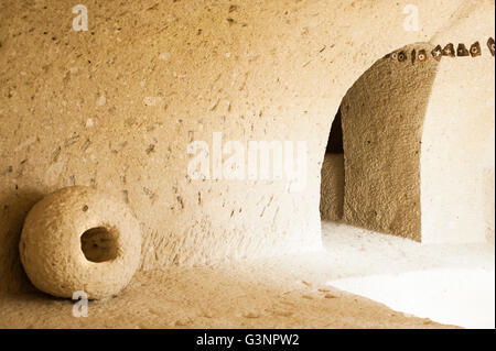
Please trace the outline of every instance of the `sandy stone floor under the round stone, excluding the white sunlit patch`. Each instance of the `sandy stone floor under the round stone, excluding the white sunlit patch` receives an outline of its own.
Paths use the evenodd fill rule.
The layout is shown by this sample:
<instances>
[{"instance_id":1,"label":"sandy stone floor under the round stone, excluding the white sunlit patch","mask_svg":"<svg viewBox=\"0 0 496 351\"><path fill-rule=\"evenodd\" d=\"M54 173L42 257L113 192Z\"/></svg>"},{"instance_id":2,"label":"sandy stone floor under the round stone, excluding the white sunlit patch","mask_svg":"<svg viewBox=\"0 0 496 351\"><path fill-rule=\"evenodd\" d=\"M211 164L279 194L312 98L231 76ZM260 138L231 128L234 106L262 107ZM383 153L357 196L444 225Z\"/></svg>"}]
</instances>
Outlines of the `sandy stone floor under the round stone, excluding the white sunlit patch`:
<instances>
[{"instance_id":1,"label":"sandy stone floor under the round stone, excluding the white sunlit patch","mask_svg":"<svg viewBox=\"0 0 496 351\"><path fill-rule=\"evenodd\" d=\"M343 282L446 267L494 276L494 245L422 246L330 222L323 243L310 254L140 272L119 296L89 301L88 317L35 290L6 295L0 328L453 328L352 294L356 282Z\"/></svg>"}]
</instances>

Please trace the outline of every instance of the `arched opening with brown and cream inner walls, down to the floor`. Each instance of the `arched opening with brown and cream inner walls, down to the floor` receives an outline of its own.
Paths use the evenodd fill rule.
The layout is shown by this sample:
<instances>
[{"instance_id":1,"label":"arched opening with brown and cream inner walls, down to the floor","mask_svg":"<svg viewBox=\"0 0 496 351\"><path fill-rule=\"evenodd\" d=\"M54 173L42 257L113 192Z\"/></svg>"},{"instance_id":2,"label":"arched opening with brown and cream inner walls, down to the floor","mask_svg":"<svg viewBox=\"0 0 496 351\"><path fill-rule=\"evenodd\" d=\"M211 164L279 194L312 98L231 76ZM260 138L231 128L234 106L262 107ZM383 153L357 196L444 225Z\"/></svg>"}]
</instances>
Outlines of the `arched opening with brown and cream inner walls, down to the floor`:
<instances>
[{"instance_id":1,"label":"arched opening with brown and cream inner walls, down to the floor","mask_svg":"<svg viewBox=\"0 0 496 351\"><path fill-rule=\"evenodd\" d=\"M347 91L322 166L323 220L424 243L494 238L494 106L463 79L475 67L483 79L492 56L439 47L386 55Z\"/></svg>"}]
</instances>

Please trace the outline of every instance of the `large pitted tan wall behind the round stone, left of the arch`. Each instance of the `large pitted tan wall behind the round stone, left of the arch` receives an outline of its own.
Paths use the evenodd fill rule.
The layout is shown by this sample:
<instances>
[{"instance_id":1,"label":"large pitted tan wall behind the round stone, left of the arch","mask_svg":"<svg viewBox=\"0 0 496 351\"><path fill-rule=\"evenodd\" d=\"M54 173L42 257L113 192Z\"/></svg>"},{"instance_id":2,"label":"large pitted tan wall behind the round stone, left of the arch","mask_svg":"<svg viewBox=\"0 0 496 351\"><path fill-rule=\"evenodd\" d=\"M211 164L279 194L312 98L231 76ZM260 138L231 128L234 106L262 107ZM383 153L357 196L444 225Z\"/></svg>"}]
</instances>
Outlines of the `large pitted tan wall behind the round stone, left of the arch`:
<instances>
[{"instance_id":1,"label":"large pitted tan wall behind the round stone, left of the arch","mask_svg":"<svg viewBox=\"0 0 496 351\"><path fill-rule=\"evenodd\" d=\"M332 119L378 57L428 41L462 0L0 0L0 290L24 285L19 233L68 185L127 201L142 270L320 245L320 172ZM478 1L476 1L478 2ZM237 4L229 12L231 4ZM228 20L231 19L231 20ZM308 187L191 182L187 143L306 140Z\"/></svg>"}]
</instances>

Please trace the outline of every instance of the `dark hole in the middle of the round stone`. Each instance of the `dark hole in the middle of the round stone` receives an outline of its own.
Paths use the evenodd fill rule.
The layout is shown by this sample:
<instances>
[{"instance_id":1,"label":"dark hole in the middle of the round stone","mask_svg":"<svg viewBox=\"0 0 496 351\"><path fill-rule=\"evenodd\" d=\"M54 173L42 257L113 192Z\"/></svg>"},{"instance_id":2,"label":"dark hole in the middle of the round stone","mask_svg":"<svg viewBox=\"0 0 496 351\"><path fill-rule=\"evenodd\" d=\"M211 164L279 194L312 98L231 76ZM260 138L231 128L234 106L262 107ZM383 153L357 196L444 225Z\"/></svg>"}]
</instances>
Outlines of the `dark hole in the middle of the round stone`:
<instances>
[{"instance_id":1,"label":"dark hole in the middle of the round stone","mask_svg":"<svg viewBox=\"0 0 496 351\"><path fill-rule=\"evenodd\" d=\"M80 249L86 260L100 263L117 257L116 237L106 228L88 229L80 235Z\"/></svg>"}]
</instances>

